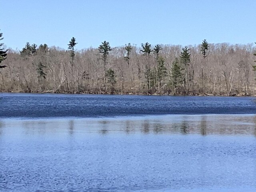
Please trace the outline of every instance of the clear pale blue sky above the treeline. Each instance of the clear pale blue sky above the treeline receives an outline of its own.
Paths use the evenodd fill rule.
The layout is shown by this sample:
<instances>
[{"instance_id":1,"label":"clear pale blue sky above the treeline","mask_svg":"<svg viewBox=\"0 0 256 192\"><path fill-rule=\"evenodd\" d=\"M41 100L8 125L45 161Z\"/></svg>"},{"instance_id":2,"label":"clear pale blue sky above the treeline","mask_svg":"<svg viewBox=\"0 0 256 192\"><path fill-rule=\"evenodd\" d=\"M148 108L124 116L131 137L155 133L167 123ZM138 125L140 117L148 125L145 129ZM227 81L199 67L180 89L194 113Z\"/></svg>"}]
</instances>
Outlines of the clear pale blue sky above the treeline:
<instances>
[{"instance_id":1,"label":"clear pale blue sky above the treeline","mask_svg":"<svg viewBox=\"0 0 256 192\"><path fill-rule=\"evenodd\" d=\"M256 0L0 0L2 42L67 48L256 42Z\"/></svg>"}]
</instances>

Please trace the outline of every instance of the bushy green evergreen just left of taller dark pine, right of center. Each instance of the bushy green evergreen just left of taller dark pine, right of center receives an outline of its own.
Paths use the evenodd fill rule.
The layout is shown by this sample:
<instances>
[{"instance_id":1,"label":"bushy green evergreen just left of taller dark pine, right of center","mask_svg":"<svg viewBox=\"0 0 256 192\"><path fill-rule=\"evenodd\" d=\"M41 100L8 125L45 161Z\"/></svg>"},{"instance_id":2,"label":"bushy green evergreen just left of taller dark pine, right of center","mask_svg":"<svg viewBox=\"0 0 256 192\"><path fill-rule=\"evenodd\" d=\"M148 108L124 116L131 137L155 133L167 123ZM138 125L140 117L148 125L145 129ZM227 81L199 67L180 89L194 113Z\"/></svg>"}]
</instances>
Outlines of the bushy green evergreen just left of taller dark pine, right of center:
<instances>
[{"instance_id":1,"label":"bushy green evergreen just left of taller dark pine, right of center","mask_svg":"<svg viewBox=\"0 0 256 192\"><path fill-rule=\"evenodd\" d=\"M175 93L175 89L178 85L178 83L181 82L181 68L180 68L180 64L179 64L179 60L178 58L175 58L175 60L172 62L172 68L171 68L171 83L173 86L173 90Z\"/></svg>"}]
</instances>

